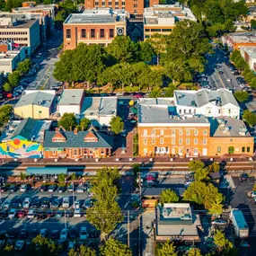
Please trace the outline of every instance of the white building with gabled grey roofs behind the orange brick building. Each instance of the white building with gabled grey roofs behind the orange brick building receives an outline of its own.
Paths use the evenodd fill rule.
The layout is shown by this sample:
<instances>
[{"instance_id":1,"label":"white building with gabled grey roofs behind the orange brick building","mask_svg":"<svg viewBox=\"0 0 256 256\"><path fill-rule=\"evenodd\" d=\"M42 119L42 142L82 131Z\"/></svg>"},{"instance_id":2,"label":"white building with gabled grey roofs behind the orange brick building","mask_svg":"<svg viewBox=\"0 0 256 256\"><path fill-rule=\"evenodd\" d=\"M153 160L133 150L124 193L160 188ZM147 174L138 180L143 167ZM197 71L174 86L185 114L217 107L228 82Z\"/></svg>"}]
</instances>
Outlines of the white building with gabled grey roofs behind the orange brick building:
<instances>
[{"instance_id":1,"label":"white building with gabled grey roofs behind the orange brick building","mask_svg":"<svg viewBox=\"0 0 256 256\"><path fill-rule=\"evenodd\" d=\"M226 89L174 91L174 102L177 113L182 116L240 118L239 104L234 99L233 93Z\"/></svg>"}]
</instances>

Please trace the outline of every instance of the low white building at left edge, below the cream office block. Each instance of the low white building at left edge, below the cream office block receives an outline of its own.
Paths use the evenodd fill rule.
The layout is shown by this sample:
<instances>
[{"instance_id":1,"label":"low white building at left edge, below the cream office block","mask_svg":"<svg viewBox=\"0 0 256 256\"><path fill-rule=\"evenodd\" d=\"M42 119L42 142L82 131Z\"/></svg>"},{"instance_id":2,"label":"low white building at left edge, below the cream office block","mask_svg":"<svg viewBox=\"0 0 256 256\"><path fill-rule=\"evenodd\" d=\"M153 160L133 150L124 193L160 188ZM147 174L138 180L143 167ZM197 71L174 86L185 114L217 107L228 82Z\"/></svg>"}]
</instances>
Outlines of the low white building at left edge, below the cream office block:
<instances>
[{"instance_id":1,"label":"low white building at left edge, below the cream office block","mask_svg":"<svg viewBox=\"0 0 256 256\"><path fill-rule=\"evenodd\" d=\"M25 57L24 48L8 50L4 53L0 52L0 73L4 72L4 75L13 73Z\"/></svg>"}]
</instances>

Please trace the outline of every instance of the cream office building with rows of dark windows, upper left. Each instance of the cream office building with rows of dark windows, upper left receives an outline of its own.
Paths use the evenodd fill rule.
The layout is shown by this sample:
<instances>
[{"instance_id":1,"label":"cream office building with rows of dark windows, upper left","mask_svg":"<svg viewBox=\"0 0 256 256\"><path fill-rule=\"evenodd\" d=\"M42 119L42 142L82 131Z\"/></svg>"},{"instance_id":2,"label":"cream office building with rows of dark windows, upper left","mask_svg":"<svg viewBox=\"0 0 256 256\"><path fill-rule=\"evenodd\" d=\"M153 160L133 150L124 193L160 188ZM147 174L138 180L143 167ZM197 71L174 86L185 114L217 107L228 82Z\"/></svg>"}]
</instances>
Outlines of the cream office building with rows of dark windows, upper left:
<instances>
[{"instance_id":1,"label":"cream office building with rows of dark windows, upper left","mask_svg":"<svg viewBox=\"0 0 256 256\"><path fill-rule=\"evenodd\" d=\"M13 41L31 56L40 46L39 20L24 14L0 13L0 41Z\"/></svg>"}]
</instances>

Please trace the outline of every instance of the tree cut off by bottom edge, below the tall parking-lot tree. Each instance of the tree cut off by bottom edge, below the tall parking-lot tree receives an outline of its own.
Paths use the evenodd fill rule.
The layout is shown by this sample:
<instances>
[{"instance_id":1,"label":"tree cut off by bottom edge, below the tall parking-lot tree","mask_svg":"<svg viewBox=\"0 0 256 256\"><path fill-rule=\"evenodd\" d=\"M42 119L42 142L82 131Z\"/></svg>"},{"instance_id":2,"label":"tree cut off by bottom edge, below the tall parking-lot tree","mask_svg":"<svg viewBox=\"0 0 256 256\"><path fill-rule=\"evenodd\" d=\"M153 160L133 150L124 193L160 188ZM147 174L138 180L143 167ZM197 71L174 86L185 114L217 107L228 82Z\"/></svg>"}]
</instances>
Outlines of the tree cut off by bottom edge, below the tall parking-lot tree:
<instances>
[{"instance_id":1,"label":"tree cut off by bottom edge, below the tall parking-lot tree","mask_svg":"<svg viewBox=\"0 0 256 256\"><path fill-rule=\"evenodd\" d=\"M128 245L120 243L118 240L110 239L101 247L101 256L113 256L113 255L121 255L121 256L132 256L131 249Z\"/></svg>"}]
</instances>

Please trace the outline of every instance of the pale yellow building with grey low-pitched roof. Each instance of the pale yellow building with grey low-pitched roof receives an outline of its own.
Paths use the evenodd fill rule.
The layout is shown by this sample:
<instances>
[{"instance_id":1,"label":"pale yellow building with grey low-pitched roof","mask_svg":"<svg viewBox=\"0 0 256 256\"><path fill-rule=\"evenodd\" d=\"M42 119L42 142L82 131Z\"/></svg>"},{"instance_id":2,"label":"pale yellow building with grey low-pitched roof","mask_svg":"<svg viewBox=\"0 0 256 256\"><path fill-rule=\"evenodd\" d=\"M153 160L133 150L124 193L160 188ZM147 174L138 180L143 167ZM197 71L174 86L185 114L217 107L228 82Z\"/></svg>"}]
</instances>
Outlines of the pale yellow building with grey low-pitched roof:
<instances>
[{"instance_id":1,"label":"pale yellow building with grey low-pitched roof","mask_svg":"<svg viewBox=\"0 0 256 256\"><path fill-rule=\"evenodd\" d=\"M49 119L53 109L55 91L24 91L14 107L14 114L21 119Z\"/></svg>"}]
</instances>

